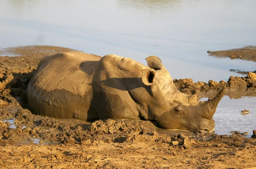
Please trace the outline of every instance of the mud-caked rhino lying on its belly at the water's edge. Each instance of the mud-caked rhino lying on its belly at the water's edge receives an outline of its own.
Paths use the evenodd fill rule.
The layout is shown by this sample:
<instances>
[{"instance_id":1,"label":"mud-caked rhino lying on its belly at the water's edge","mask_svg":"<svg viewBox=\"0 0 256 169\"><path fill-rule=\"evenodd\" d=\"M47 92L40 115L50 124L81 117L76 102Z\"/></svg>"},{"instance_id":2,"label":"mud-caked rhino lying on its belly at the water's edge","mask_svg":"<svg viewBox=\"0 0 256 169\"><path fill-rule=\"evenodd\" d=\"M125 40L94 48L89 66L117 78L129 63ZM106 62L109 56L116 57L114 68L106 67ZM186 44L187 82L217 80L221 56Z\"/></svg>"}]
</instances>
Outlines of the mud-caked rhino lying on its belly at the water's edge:
<instances>
[{"instance_id":1,"label":"mud-caked rhino lying on its belly at the water's edge","mask_svg":"<svg viewBox=\"0 0 256 169\"><path fill-rule=\"evenodd\" d=\"M79 51L44 57L29 82L32 113L53 118L144 119L166 129L212 131L212 119L224 88L211 100L198 101L175 87L156 56L148 67L116 55Z\"/></svg>"}]
</instances>

